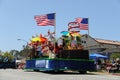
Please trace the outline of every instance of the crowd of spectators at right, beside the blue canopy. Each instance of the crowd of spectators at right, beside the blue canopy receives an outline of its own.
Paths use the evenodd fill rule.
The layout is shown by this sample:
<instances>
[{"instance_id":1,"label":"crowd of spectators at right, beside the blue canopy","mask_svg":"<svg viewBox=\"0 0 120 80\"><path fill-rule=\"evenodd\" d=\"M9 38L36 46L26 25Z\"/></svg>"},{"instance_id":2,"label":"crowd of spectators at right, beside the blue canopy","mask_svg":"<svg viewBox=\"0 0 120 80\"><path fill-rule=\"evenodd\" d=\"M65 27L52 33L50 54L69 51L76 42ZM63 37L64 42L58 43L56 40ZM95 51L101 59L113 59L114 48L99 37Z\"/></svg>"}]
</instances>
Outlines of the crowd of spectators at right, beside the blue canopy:
<instances>
[{"instance_id":1,"label":"crowd of spectators at right, beside the blue canopy","mask_svg":"<svg viewBox=\"0 0 120 80\"><path fill-rule=\"evenodd\" d=\"M97 59L96 60L96 69L105 70L108 73L120 72L120 59Z\"/></svg>"}]
</instances>

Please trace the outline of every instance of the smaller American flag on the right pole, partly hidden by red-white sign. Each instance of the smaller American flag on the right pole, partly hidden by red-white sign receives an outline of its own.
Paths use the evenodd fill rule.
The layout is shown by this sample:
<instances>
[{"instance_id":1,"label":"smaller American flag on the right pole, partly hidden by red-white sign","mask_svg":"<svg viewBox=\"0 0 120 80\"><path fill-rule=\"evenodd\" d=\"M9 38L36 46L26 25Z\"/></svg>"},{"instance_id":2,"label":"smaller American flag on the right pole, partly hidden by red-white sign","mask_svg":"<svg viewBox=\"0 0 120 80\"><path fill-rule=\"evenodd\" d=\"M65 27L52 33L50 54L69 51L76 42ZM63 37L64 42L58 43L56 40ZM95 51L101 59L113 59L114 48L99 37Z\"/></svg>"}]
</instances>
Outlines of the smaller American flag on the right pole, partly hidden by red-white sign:
<instances>
[{"instance_id":1,"label":"smaller American flag on the right pole, partly hidden by red-white sign","mask_svg":"<svg viewBox=\"0 0 120 80\"><path fill-rule=\"evenodd\" d=\"M76 18L75 22L79 23L80 30L88 30L88 18Z\"/></svg>"}]
</instances>

